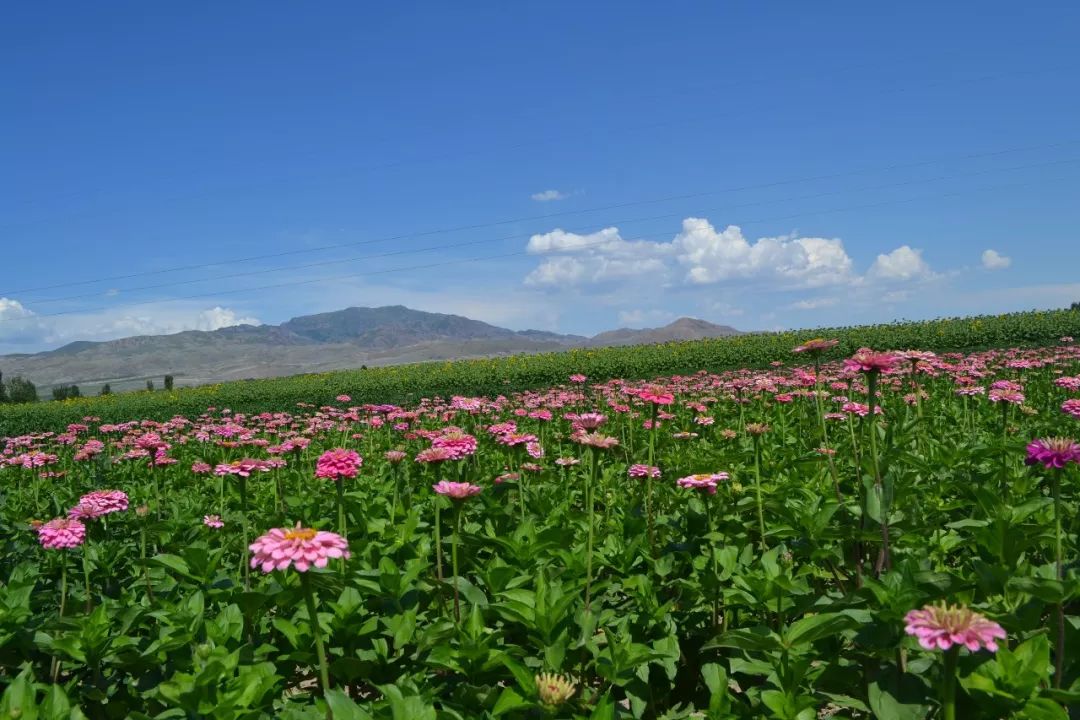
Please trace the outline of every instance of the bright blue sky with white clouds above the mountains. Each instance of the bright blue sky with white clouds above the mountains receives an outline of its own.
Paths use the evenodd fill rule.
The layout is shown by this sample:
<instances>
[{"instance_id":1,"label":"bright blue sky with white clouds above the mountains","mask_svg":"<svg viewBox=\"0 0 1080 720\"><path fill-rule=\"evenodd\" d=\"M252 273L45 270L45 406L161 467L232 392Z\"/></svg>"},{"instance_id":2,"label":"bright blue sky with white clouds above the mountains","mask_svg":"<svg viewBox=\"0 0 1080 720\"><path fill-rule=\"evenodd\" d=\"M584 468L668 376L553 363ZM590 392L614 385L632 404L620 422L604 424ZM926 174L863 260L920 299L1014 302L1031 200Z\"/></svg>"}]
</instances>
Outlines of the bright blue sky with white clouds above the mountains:
<instances>
[{"instance_id":1,"label":"bright blue sky with white clouds above the mountains","mask_svg":"<svg viewBox=\"0 0 1080 720\"><path fill-rule=\"evenodd\" d=\"M1068 2L23 3L0 352L397 303L580 334L1062 307L1078 24Z\"/></svg>"}]
</instances>

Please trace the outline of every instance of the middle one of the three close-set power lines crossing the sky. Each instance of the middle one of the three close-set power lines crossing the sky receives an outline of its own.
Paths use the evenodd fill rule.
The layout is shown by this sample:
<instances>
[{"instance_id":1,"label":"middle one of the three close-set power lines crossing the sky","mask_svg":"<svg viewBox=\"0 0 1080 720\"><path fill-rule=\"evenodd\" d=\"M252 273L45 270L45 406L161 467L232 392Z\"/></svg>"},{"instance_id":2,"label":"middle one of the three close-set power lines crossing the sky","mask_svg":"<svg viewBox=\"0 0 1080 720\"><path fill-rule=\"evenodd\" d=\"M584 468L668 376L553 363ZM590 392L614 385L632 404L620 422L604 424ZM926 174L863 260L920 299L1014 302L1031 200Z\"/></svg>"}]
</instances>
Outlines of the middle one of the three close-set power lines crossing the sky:
<instances>
[{"instance_id":1,"label":"middle one of the three close-set power lines crossing the sky","mask_svg":"<svg viewBox=\"0 0 1080 720\"><path fill-rule=\"evenodd\" d=\"M700 210L696 210L696 213L699 214L699 215L706 215L706 214L711 214L711 213L726 212L726 210L732 210L732 209L742 209L742 208L745 208L745 207L755 207L755 206L758 206L758 205L771 205L771 204L777 204L777 203L795 202L795 201L801 201L801 200L816 200L819 198L826 198L826 196L829 196L829 195L848 194L848 193L854 193L854 192L866 192L866 191L872 191L872 190L883 190L883 189L889 189L889 188L900 188L900 187L906 187L906 186L910 186L910 185L922 185L922 184L927 184L927 182L937 182L937 181L941 181L941 180L951 180L951 179L961 178L961 177L974 177L974 176L980 176L980 175L990 175L990 174L995 174L995 173L1009 173L1009 172L1023 171L1023 169L1034 169L1034 168L1040 168L1040 167L1051 167L1051 166L1055 166L1055 165L1066 165L1066 164L1072 164L1072 163L1077 163L1077 162L1080 162L1080 158L1070 158L1070 159L1065 159L1065 160L1055 160L1055 161L1050 161L1050 162L1045 162L1045 163L1029 163L1029 164L1026 164L1026 165L1014 165L1014 166L1011 166L1011 167L984 168L984 169L972 171L972 172L968 172L968 173L955 173L955 174L950 174L950 175L937 175L935 177L929 177L929 178L915 178L915 179L902 180L902 181L897 181L897 182L887 182L887 184L881 184L881 185L864 186L862 188L854 188L854 189L851 189L851 190L829 190L829 191L819 192L819 193L813 193L813 194L808 194L808 195L792 195L792 196L787 196L787 198L759 200L759 201L750 202L750 203L741 203L741 204L738 204L738 205L727 205L727 206L721 206L721 207L703 208L703 209L700 209ZM665 219L670 219L670 218L673 218L673 217L679 217L679 216L685 216L685 215L686 215L685 213L667 213L667 214L664 214L664 215L653 215L653 216L649 216L649 217L623 218L621 220L612 220L610 222L605 222L605 223L597 225L597 226L588 226L588 229L581 228L581 229L578 229L577 232L578 232L578 234L583 234L583 233L586 233L586 232L590 232L590 231L594 232L595 230L599 230L599 229L603 229L605 227L611 227L611 226L617 226L617 225L626 225L626 223L633 223L633 222L647 222L647 221L651 221L651 220L665 220ZM210 283L210 282L219 281L219 280L232 281L232 280L235 280L237 277L248 277L248 276L253 276L253 275L266 275L266 274L270 274L270 273L274 273L274 272L287 272L287 271L297 271L297 270L308 270L308 269L311 269L311 268L322 268L322 267L326 267L326 266L330 266L330 264L345 264L345 263L349 263L349 262L359 262L361 260L375 260L375 259L381 259L381 258L388 258L388 257L395 257L395 256L400 256L400 255L417 255L417 254L420 254L420 253L431 253L431 252L435 252L435 250L459 249L459 248L462 248L462 247L471 247L471 246L474 246L474 245L487 245L487 244L492 244L492 243L500 243L500 242L505 242L508 240L519 240L519 239L524 239L524 237L529 237L532 234L535 234L535 233L516 233L516 234L512 234L512 235L502 235L500 237L487 237L487 239L484 239L484 240L470 240L470 241L463 241L463 242L459 242L459 243L447 243L447 244L442 244L442 245L431 245L431 246L428 246L428 247L408 248L408 249L401 249L401 250L391 250L391 252L387 252L387 253L376 253L376 254L372 254L372 255L361 255L361 256L355 256L355 257L351 257L351 258L337 258L337 259L333 259L333 260L321 260L319 262L308 262L308 263L303 263L303 264L299 264L299 266L289 264L289 266L280 266L280 267L276 267L276 268L264 268L264 269L260 269L260 270L248 270L248 271L243 271L243 272L231 272L231 273L226 274L226 275L213 275L213 276L210 276L210 277L197 277L197 279L192 279L192 280L173 281L173 282L168 282L168 283L158 283L158 284L154 284L154 285L143 285L143 286L139 286L139 287L123 288L122 291L123 293L138 293L138 291L141 291L141 290L157 290L157 289L161 289L161 288L165 288L165 287L177 287L177 286L180 286L180 285L195 285L195 284L199 284L199 283ZM70 301L70 300L84 300L84 299L87 299L87 298L102 297L103 295L105 295L105 294L104 293L96 293L95 291L95 293L85 293L85 294L80 294L80 295L68 295L68 296L64 296L64 297L59 297L59 298L45 298L45 299L35 300L33 302L35 302L35 304L41 305L41 304L49 304L49 303L54 303L54 302L66 302L66 301Z\"/></svg>"}]
</instances>

